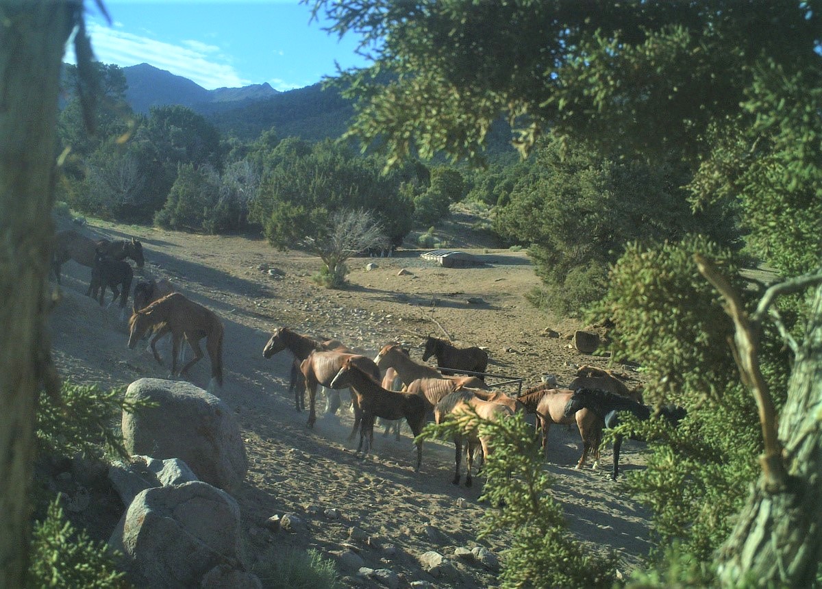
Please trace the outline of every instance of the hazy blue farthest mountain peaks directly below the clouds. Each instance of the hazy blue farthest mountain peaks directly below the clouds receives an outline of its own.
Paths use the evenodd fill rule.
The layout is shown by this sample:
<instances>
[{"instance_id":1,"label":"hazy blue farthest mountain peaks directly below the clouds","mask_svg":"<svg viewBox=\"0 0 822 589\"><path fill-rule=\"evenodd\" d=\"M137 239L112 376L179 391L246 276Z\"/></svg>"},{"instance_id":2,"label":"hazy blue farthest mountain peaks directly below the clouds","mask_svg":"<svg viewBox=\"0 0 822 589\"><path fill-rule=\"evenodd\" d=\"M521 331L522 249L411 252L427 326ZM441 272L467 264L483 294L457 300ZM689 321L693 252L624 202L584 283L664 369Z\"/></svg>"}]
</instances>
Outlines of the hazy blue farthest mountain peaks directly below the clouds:
<instances>
[{"instance_id":1,"label":"hazy blue farthest mountain peaks directly below the clouds","mask_svg":"<svg viewBox=\"0 0 822 589\"><path fill-rule=\"evenodd\" d=\"M123 67L122 71L128 83L126 99L135 113L145 114L151 107L165 104L182 104L199 110L197 106L200 104L230 104L265 99L278 94L277 90L267 83L243 88L205 90L187 78L175 76L170 71L161 70L148 63Z\"/></svg>"}]
</instances>

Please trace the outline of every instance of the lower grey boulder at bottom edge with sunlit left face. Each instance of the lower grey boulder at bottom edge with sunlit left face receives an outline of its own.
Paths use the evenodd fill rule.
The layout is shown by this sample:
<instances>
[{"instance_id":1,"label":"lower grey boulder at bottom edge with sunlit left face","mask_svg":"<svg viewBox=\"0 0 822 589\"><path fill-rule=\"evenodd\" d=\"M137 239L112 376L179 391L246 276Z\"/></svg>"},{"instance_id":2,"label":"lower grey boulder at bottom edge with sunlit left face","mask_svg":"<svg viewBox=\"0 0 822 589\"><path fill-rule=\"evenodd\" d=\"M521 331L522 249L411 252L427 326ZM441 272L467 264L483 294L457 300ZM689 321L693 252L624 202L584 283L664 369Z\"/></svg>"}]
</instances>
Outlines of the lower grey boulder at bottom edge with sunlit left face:
<instances>
[{"instance_id":1,"label":"lower grey boulder at bottom edge with sunlit left face","mask_svg":"<svg viewBox=\"0 0 822 589\"><path fill-rule=\"evenodd\" d=\"M240 508L231 495L192 481L139 493L109 545L123 554L137 587L197 587L220 564L246 577L240 535Z\"/></svg>"}]
</instances>

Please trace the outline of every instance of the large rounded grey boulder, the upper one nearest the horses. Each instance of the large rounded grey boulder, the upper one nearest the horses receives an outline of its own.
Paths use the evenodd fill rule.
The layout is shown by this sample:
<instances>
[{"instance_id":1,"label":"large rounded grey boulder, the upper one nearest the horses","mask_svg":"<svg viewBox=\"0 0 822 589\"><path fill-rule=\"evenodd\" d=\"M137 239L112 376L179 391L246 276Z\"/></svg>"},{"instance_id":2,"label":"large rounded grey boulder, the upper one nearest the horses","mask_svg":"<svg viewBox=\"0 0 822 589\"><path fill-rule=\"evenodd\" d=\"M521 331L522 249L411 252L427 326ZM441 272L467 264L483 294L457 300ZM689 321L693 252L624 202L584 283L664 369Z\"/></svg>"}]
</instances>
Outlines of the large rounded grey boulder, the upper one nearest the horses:
<instances>
[{"instance_id":1,"label":"large rounded grey boulder, the upper one nearest the horses","mask_svg":"<svg viewBox=\"0 0 822 589\"><path fill-rule=\"evenodd\" d=\"M238 489L248 470L240 428L219 398L182 381L140 379L129 384L127 401L156 407L122 413L123 443L130 454L180 458L201 480Z\"/></svg>"}]
</instances>

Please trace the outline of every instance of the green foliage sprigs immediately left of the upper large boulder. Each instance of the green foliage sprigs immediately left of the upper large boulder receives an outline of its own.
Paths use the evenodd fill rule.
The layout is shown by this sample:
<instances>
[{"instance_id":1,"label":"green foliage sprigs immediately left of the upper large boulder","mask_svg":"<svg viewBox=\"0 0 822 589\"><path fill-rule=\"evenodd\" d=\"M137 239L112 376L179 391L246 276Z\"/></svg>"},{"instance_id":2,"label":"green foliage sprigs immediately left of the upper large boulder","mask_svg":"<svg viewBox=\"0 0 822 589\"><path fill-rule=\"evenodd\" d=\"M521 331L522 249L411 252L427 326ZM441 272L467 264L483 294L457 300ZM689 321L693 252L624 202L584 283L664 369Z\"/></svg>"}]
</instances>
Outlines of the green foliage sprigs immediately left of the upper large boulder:
<instances>
[{"instance_id":1,"label":"green foliage sprigs immediately left of the upper large boulder","mask_svg":"<svg viewBox=\"0 0 822 589\"><path fill-rule=\"evenodd\" d=\"M121 390L104 392L94 385L64 382L58 402L40 394L36 423L39 451L60 456L95 454L104 445L126 457L118 423L123 411L135 412L141 407L127 401Z\"/></svg>"}]
</instances>

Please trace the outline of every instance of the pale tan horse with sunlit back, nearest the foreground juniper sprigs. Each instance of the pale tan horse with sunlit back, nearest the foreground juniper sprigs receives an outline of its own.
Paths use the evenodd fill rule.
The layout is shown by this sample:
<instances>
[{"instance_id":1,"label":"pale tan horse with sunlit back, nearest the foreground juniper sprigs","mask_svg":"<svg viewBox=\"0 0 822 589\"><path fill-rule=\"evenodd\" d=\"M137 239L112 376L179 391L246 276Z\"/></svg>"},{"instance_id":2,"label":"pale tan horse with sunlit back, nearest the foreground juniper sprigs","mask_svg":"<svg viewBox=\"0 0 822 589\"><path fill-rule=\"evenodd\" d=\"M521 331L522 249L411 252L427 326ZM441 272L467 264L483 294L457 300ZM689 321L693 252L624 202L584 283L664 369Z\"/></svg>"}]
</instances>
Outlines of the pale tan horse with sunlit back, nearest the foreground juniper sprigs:
<instances>
[{"instance_id":1,"label":"pale tan horse with sunlit back, nearest the foreground juniper sprigs","mask_svg":"<svg viewBox=\"0 0 822 589\"><path fill-rule=\"evenodd\" d=\"M461 421L464 425L463 430L459 434L454 435L455 473L454 481L452 482L455 485L459 485L459 462L462 460L462 443L463 439L465 439L468 454L466 462L467 473L465 475L465 486L467 487L471 486L473 482L471 478L471 468L473 467L473 454L477 447L479 446L483 449L483 457L487 457L491 452L488 445L489 439L484 435L479 435L475 426L467 426L465 423L473 416L473 412L476 412L479 417L488 421L499 421L504 417L514 415L514 412L505 405L492 401L483 401L472 391L455 391L454 393L447 394L441 398L439 403L436 403L436 407L434 407L434 421L436 421L436 423L442 423L446 418L450 418Z\"/></svg>"}]
</instances>

